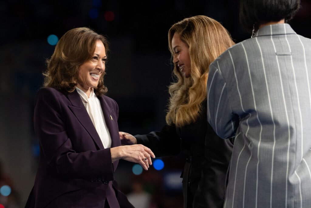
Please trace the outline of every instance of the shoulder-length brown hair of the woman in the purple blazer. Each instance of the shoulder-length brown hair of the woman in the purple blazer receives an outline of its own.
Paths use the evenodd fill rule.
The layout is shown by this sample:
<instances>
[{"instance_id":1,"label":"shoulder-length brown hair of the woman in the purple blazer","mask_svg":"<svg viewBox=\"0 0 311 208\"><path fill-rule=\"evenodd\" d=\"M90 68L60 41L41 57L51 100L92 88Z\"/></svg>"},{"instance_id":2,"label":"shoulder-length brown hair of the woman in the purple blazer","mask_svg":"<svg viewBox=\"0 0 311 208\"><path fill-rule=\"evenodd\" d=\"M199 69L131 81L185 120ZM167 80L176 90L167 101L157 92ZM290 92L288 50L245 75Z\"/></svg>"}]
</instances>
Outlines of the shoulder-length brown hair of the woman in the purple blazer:
<instances>
[{"instance_id":1,"label":"shoulder-length brown hair of the woman in the purple blazer","mask_svg":"<svg viewBox=\"0 0 311 208\"><path fill-rule=\"evenodd\" d=\"M48 69L43 73L43 86L56 88L63 93L73 92L78 83L79 67L91 59L97 40L103 42L107 54L108 41L104 36L87 27L67 31L58 41L52 57L47 60ZM94 88L97 96L107 93L104 75L105 73L100 76L98 85Z\"/></svg>"}]
</instances>

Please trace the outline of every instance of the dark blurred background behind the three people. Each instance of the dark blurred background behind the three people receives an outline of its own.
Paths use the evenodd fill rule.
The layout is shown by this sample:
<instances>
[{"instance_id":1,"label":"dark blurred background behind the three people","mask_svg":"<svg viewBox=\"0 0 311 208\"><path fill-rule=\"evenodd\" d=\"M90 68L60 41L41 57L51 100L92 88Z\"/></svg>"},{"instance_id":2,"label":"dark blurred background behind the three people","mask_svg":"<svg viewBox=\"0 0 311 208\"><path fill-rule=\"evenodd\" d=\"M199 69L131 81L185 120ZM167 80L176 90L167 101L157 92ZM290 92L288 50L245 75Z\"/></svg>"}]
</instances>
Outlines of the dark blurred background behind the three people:
<instances>
[{"instance_id":1,"label":"dark blurred background behind the three people","mask_svg":"<svg viewBox=\"0 0 311 208\"><path fill-rule=\"evenodd\" d=\"M290 25L310 38L311 2L302 0L301 4ZM112 21L109 12L114 14ZM236 0L140 4L112 0L0 1L0 180L2 174L2 180L12 186L12 195L0 195L0 204L6 200L11 203L6 207L24 206L33 186L38 141L32 114L45 60L55 47L47 42L50 34L60 38L72 28L90 27L108 38L105 85L108 96L119 104L119 129L144 134L165 124L167 86L173 81L167 42L170 26L185 17L207 15L221 22L233 40L240 42L250 34L240 27L238 13ZM153 207L180 207L180 186L172 188L165 181L180 184L182 156L162 159L164 169L151 167L139 176L132 173L132 163L121 161L116 178L125 193L131 191L133 181L140 181L151 194Z\"/></svg>"}]
</instances>

